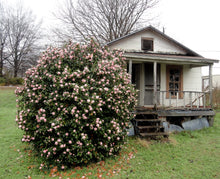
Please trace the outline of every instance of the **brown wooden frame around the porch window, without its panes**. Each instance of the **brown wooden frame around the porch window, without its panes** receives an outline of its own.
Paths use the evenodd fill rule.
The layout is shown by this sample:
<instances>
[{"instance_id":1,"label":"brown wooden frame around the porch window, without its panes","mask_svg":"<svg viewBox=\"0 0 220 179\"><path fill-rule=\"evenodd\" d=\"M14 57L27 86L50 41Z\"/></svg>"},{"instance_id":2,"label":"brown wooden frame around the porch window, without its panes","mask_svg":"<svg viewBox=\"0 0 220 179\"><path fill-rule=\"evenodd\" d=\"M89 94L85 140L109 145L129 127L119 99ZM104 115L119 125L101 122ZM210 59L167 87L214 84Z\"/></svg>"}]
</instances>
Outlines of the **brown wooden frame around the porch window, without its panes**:
<instances>
[{"instance_id":1,"label":"brown wooden frame around the porch window, without its panes","mask_svg":"<svg viewBox=\"0 0 220 179\"><path fill-rule=\"evenodd\" d=\"M181 65L167 65L166 66L166 98L169 99L169 92L170 92L170 88L169 88L169 84L170 84L170 70L180 70L180 88L178 89L179 93L179 98L182 99L183 98L183 66ZM175 82L174 82L175 83ZM176 95L172 95L171 99L176 99L177 96Z\"/></svg>"}]
</instances>

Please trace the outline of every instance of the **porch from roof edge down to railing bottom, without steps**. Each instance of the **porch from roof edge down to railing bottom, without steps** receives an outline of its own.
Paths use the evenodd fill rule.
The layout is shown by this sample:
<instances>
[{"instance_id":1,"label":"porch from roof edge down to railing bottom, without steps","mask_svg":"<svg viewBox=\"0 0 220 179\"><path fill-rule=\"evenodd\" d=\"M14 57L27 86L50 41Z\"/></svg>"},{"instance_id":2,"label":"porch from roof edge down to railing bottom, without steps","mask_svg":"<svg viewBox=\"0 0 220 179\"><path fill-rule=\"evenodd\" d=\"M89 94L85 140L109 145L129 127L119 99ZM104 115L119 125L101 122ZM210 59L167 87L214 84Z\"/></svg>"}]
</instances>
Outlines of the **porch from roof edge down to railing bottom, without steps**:
<instances>
[{"instance_id":1,"label":"porch from roof edge down to railing bottom, without steps","mask_svg":"<svg viewBox=\"0 0 220 179\"><path fill-rule=\"evenodd\" d=\"M131 83L139 91L138 106L212 108L212 65L215 60L201 63L141 59L139 55L128 57ZM202 89L202 66L209 66L209 86L205 91Z\"/></svg>"}]
</instances>

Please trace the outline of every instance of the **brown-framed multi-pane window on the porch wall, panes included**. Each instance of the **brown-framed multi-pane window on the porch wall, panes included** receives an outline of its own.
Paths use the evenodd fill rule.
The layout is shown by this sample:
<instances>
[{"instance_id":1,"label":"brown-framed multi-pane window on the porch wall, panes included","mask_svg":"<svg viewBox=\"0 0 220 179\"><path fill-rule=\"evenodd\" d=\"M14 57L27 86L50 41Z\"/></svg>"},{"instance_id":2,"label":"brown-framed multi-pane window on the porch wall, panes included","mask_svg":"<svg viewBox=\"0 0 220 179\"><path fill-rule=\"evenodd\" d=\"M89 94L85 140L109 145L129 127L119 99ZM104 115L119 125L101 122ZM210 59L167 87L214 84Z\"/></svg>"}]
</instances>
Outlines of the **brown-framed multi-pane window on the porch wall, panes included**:
<instances>
[{"instance_id":1,"label":"brown-framed multi-pane window on the porch wall, panes included","mask_svg":"<svg viewBox=\"0 0 220 179\"><path fill-rule=\"evenodd\" d=\"M176 98L177 93L183 91L183 68L182 66L167 66L167 98ZM182 93L179 93L182 98Z\"/></svg>"}]
</instances>

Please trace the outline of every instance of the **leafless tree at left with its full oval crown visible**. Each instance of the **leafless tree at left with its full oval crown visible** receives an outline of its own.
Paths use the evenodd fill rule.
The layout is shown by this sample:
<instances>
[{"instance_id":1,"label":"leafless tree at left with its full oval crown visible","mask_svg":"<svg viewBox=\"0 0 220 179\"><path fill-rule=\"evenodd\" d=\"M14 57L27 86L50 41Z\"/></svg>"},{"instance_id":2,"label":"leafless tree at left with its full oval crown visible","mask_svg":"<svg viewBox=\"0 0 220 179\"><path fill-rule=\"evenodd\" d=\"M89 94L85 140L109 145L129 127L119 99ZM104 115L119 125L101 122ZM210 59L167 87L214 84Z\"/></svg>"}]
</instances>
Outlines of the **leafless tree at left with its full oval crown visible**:
<instances>
[{"instance_id":1,"label":"leafless tree at left with its full oval crown visible","mask_svg":"<svg viewBox=\"0 0 220 179\"><path fill-rule=\"evenodd\" d=\"M32 11L22 5L11 7L7 17L8 63L17 77L19 70L29 63L30 54L37 49L41 23L37 23Z\"/></svg>"}]
</instances>

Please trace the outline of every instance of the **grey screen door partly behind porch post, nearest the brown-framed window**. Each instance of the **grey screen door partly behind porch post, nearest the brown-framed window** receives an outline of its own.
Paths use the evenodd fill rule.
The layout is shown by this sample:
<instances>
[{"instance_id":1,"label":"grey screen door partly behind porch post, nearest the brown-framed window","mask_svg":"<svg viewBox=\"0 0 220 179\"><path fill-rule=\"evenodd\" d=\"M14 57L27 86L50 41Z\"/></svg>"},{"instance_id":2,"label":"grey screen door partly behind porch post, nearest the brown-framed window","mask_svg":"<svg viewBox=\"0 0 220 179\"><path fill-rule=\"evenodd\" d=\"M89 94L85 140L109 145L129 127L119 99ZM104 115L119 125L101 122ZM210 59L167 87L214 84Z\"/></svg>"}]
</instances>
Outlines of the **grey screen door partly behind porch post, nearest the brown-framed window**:
<instances>
[{"instance_id":1,"label":"grey screen door partly behind porch post, nearest the brown-framed window","mask_svg":"<svg viewBox=\"0 0 220 179\"><path fill-rule=\"evenodd\" d=\"M145 63L145 94L144 94L144 105L153 105L153 91L154 91L154 64ZM160 64L157 64L157 91L160 90ZM159 101L159 97L157 98Z\"/></svg>"}]
</instances>

